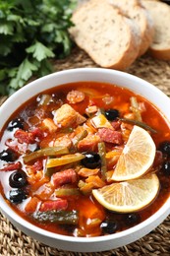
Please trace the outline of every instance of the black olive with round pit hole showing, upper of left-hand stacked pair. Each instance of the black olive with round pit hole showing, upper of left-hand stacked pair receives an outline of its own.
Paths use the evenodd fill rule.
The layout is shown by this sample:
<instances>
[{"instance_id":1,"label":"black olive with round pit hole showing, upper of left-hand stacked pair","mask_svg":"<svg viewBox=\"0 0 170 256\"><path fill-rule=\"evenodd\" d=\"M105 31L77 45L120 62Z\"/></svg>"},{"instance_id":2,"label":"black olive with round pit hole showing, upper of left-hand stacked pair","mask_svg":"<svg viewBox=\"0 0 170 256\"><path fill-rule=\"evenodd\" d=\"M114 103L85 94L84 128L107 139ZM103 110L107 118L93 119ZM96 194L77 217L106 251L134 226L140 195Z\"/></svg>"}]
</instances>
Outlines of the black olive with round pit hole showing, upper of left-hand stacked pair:
<instances>
[{"instance_id":1,"label":"black olive with round pit hole showing, upper of left-hand stacked pair","mask_svg":"<svg viewBox=\"0 0 170 256\"><path fill-rule=\"evenodd\" d=\"M9 184L14 188L21 188L28 183L27 174L23 170L14 171L9 177Z\"/></svg>"}]
</instances>

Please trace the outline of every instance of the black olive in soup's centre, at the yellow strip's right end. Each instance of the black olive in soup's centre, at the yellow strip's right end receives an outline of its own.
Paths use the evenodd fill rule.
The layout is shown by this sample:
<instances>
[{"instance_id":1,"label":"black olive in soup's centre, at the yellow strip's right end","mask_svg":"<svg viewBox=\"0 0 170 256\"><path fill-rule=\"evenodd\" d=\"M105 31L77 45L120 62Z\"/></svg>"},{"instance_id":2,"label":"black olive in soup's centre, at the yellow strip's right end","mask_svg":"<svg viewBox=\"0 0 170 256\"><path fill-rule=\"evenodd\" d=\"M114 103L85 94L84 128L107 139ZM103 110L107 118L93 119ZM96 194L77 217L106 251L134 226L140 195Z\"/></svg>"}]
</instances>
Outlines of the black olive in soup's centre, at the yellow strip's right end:
<instances>
[{"instance_id":1,"label":"black olive in soup's centre, at the yellow strip's right end","mask_svg":"<svg viewBox=\"0 0 170 256\"><path fill-rule=\"evenodd\" d=\"M86 168L97 168L101 166L101 159L100 156L95 152L88 152L85 153L85 159L81 160L81 163Z\"/></svg>"}]
</instances>

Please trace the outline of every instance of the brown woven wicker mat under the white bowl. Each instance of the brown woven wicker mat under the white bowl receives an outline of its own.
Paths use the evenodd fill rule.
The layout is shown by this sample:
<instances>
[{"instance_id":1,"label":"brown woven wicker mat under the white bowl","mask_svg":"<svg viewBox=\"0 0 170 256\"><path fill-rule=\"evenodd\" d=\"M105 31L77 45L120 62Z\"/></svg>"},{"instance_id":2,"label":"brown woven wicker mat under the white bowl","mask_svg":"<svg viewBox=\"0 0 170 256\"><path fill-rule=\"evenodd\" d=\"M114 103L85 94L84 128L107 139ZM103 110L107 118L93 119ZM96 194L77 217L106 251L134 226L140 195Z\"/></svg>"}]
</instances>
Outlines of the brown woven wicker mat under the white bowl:
<instances>
[{"instance_id":1,"label":"brown woven wicker mat under the white bowl","mask_svg":"<svg viewBox=\"0 0 170 256\"><path fill-rule=\"evenodd\" d=\"M55 70L64 70L79 67L96 67L84 51L75 48L70 57L55 61ZM127 72L137 75L152 83L167 96L170 96L170 62L152 59L147 54L137 60ZM1 98L0 104L5 100ZM2 256L142 256L142 255L170 255L170 216L155 230L140 240L118 249L95 252L76 253L57 250L28 237L16 229L10 222L0 216L0 255Z\"/></svg>"}]
</instances>

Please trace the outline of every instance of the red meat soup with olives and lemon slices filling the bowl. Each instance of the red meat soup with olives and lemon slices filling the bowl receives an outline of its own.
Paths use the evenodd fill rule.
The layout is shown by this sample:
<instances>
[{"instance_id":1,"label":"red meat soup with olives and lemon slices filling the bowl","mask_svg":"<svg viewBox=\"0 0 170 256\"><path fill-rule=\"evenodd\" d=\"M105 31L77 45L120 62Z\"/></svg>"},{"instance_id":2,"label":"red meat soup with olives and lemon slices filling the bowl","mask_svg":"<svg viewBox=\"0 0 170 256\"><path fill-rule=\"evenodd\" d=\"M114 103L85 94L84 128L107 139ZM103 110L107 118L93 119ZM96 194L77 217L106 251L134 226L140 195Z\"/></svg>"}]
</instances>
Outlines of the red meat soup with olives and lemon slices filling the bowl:
<instances>
[{"instance_id":1,"label":"red meat soup with olives and lemon slices filling the bowl","mask_svg":"<svg viewBox=\"0 0 170 256\"><path fill-rule=\"evenodd\" d=\"M52 232L90 237L140 224L167 200L169 184L169 124L142 96L115 85L45 91L1 131L1 194Z\"/></svg>"}]
</instances>

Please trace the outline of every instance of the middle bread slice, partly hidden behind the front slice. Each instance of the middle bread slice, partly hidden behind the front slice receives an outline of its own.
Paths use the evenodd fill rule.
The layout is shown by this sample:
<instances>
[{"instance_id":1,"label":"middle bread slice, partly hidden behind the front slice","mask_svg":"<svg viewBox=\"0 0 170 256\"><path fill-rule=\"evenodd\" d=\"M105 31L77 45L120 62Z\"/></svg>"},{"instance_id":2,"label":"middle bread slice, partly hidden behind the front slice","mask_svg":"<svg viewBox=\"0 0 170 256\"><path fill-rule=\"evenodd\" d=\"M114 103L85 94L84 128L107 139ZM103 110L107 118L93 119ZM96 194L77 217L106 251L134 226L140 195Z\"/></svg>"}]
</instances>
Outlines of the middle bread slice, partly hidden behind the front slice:
<instances>
[{"instance_id":1,"label":"middle bread slice, partly hidden behind the front slice","mask_svg":"<svg viewBox=\"0 0 170 256\"><path fill-rule=\"evenodd\" d=\"M97 1L97 0L95 0ZM103 0L100 0L103 1ZM153 39L153 23L149 12L142 6L141 0L105 0L121 9L138 26L142 38L139 56L148 49Z\"/></svg>"}]
</instances>

